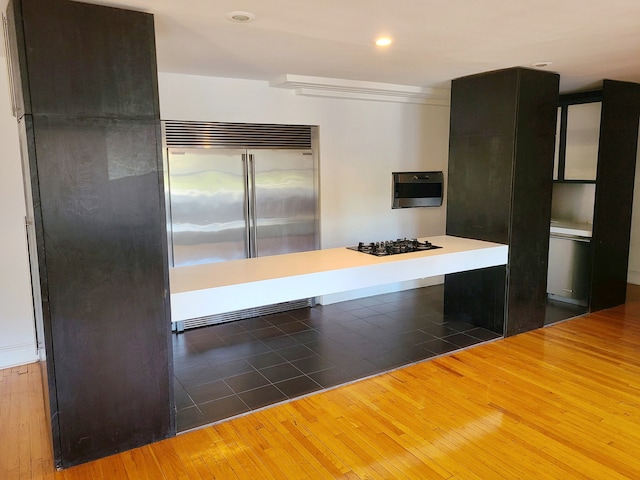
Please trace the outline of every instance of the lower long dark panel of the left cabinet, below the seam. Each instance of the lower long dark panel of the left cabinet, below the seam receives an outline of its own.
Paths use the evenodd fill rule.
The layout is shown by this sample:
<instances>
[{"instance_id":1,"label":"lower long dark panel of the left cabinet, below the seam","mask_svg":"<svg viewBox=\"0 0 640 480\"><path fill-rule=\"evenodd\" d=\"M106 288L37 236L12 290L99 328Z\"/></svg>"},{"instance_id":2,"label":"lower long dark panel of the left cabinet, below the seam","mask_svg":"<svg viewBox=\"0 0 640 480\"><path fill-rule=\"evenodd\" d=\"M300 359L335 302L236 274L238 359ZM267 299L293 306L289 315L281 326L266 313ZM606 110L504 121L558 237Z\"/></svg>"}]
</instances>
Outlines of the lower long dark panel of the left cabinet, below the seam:
<instances>
[{"instance_id":1,"label":"lower long dark panel of the left cabinet, below the seam","mask_svg":"<svg viewBox=\"0 0 640 480\"><path fill-rule=\"evenodd\" d=\"M36 117L60 459L169 434L159 124Z\"/></svg>"}]
</instances>

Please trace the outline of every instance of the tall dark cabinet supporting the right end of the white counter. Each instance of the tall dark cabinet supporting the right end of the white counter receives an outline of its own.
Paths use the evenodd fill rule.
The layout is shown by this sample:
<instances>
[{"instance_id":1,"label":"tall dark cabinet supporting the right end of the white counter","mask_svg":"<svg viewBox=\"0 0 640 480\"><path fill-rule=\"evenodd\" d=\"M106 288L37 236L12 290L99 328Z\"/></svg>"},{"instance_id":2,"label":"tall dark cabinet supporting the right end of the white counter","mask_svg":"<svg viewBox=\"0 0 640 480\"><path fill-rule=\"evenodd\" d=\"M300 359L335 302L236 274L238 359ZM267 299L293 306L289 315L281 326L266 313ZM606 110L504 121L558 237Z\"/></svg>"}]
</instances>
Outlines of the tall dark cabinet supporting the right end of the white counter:
<instances>
[{"instance_id":1,"label":"tall dark cabinet supporting the right end of the white counter","mask_svg":"<svg viewBox=\"0 0 640 480\"><path fill-rule=\"evenodd\" d=\"M445 277L445 313L504 335L543 326L559 76L511 68L451 86L447 235L509 245L506 269Z\"/></svg>"}]
</instances>

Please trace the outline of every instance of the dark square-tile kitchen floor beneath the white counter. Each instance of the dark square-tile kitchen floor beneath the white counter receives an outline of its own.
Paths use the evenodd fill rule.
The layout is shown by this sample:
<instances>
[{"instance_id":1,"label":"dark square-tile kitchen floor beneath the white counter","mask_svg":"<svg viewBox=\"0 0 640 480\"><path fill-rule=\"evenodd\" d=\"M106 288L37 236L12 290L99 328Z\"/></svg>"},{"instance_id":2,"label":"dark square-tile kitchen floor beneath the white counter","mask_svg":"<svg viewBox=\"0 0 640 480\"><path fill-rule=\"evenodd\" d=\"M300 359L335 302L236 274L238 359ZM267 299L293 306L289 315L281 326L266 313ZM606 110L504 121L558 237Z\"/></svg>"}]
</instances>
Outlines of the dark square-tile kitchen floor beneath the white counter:
<instances>
[{"instance_id":1,"label":"dark square-tile kitchen floor beneath the white counter","mask_svg":"<svg viewBox=\"0 0 640 480\"><path fill-rule=\"evenodd\" d=\"M442 285L173 335L178 431L499 335L442 315Z\"/></svg>"}]
</instances>

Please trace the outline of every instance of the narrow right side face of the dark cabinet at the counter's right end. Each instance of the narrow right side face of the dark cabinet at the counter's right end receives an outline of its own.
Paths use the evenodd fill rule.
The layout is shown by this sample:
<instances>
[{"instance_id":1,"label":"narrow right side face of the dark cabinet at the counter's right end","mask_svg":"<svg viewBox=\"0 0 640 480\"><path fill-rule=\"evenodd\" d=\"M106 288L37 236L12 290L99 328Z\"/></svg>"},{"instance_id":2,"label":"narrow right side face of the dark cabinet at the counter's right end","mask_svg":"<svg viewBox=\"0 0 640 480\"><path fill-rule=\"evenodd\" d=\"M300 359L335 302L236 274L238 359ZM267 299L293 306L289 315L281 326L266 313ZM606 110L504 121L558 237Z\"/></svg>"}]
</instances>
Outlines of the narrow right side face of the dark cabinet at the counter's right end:
<instances>
[{"instance_id":1,"label":"narrow right side face of the dark cabinet at the counter's right end","mask_svg":"<svg viewBox=\"0 0 640 480\"><path fill-rule=\"evenodd\" d=\"M507 335L542 327L547 300L559 77L530 70L523 73L515 125Z\"/></svg>"}]
</instances>

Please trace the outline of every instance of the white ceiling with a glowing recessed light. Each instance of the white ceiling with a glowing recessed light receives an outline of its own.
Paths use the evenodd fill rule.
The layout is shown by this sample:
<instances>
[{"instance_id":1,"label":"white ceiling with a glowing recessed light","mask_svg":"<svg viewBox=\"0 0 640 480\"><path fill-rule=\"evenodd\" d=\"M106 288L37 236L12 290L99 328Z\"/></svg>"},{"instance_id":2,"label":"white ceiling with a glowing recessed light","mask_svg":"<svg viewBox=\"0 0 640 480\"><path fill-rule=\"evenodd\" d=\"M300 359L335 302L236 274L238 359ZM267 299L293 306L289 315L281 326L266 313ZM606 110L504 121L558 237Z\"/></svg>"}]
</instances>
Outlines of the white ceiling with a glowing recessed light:
<instances>
[{"instance_id":1,"label":"white ceiling with a glowing recessed light","mask_svg":"<svg viewBox=\"0 0 640 480\"><path fill-rule=\"evenodd\" d=\"M86 1L86 0L85 0ZM155 15L158 69L448 88L551 61L561 92L640 82L640 0L90 0ZM233 23L230 11L256 15ZM393 38L386 49L373 40Z\"/></svg>"}]
</instances>

